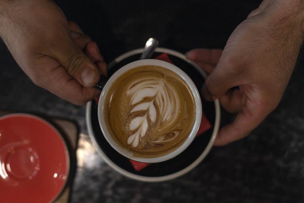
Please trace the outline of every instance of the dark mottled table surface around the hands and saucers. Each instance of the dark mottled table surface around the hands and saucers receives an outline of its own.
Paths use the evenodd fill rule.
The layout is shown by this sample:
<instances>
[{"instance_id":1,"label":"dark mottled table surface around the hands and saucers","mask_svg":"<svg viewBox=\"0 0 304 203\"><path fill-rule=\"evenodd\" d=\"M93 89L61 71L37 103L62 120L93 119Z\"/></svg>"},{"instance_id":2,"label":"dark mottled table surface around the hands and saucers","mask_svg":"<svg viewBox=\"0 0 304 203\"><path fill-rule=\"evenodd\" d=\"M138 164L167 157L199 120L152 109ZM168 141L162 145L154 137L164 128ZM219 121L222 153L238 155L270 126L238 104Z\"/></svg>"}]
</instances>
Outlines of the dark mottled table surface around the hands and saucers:
<instances>
[{"instance_id":1,"label":"dark mottled table surface around the hands and saucers","mask_svg":"<svg viewBox=\"0 0 304 203\"><path fill-rule=\"evenodd\" d=\"M56 1L100 46L105 61L143 47L149 37L184 53L223 48L261 1ZM302 54L301 54L302 55ZM70 202L304 202L304 69L300 58L278 107L246 138L214 147L194 170L144 183L110 168L88 137L85 106L35 86L0 43L0 110L76 122L77 167ZM221 124L233 116L222 110Z\"/></svg>"}]
</instances>

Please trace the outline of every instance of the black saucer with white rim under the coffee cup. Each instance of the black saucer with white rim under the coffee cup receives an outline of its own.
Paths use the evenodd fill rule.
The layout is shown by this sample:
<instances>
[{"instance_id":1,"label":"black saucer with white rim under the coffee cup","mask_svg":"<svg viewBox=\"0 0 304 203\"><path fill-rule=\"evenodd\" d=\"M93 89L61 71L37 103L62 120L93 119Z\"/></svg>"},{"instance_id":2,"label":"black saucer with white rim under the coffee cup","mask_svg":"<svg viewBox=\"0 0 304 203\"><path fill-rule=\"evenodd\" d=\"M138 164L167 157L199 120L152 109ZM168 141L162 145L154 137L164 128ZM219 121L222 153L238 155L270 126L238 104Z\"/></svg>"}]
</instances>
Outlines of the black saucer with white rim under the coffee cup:
<instances>
[{"instance_id":1,"label":"black saucer with white rim under the coffee cup","mask_svg":"<svg viewBox=\"0 0 304 203\"><path fill-rule=\"evenodd\" d=\"M188 61L183 54L165 48L157 48L152 58L167 53L170 60L186 72L198 89L204 82L204 73L191 61ZM120 67L140 58L141 49L130 51L109 64L109 77ZM201 97L202 98L202 97ZM133 168L130 160L112 148L106 141L99 126L97 115L97 103L92 100L87 104L87 126L98 151L105 161L116 171L135 180L156 182L170 180L181 176L197 166L210 151L213 141L219 129L219 102L207 102L202 99L202 109L212 128L197 136L188 148L178 156L160 163L153 163L137 171Z\"/></svg>"}]
</instances>

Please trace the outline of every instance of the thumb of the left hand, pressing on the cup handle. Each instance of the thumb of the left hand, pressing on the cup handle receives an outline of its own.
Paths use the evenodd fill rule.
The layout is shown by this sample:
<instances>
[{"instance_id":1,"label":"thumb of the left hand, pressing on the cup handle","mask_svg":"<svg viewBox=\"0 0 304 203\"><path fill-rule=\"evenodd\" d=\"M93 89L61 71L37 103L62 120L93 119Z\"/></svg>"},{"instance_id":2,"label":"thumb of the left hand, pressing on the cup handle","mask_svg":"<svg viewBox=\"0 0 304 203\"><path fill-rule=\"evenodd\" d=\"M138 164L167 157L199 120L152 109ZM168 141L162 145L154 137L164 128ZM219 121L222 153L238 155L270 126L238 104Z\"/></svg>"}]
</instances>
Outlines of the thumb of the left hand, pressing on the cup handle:
<instances>
[{"instance_id":1,"label":"thumb of the left hand, pressing on the cup handle","mask_svg":"<svg viewBox=\"0 0 304 203\"><path fill-rule=\"evenodd\" d=\"M93 87L98 83L100 74L96 65L77 47L69 34L61 37L56 47L52 56L79 84Z\"/></svg>"}]
</instances>

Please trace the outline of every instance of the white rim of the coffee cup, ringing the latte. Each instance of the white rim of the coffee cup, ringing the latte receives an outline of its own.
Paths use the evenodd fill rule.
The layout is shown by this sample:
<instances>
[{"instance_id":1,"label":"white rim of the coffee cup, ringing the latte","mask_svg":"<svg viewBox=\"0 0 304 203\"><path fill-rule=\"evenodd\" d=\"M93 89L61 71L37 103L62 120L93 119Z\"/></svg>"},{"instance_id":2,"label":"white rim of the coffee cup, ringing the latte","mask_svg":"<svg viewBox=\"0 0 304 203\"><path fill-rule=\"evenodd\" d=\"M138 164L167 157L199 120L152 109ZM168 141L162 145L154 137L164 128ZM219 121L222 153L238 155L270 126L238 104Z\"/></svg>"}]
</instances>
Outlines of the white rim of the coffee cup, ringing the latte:
<instances>
[{"instance_id":1,"label":"white rim of the coffee cup, ringing the latte","mask_svg":"<svg viewBox=\"0 0 304 203\"><path fill-rule=\"evenodd\" d=\"M105 90L109 89L112 86L112 83L117 79L117 77L119 77L119 75L123 74L124 72L126 72L132 68L135 68L135 67L138 67L141 65L157 65L157 66L167 68L167 69L177 73L183 80L185 80L187 82L187 84L188 84L189 88L191 89L192 94L194 96L195 105L196 105L195 116L197 119L195 119L195 123L194 123L192 130L190 132L190 135L188 136L186 141L178 149L174 150L173 152L170 152L169 154L166 154L164 156L159 156L159 157L154 157L154 158L135 157L135 156L133 156L132 152L121 147L116 141L114 141L112 139L112 137L109 134L109 131L105 125L105 121L104 121L104 117L103 117L103 106L104 106L104 101L105 101L105 96L106 96ZM105 87L102 90L102 93L101 93L101 96L99 97L99 102L98 102L99 126L100 126L102 133L105 136L105 139L107 140L107 142L109 142L109 144L123 156L125 156L129 159L132 159L134 161L143 162L143 163L163 162L163 161L171 159L171 158L177 156L178 154L180 154L181 152L183 152L194 140L194 138L199 130L200 124L201 124L201 118L202 118L202 102L201 102L199 91L196 88L192 79L183 70L178 68L176 65L171 64L166 61L157 60L157 59L143 59L143 60L133 61L133 62L130 62L130 63L124 65L120 69L118 69L109 78L108 82L106 83Z\"/></svg>"}]
</instances>

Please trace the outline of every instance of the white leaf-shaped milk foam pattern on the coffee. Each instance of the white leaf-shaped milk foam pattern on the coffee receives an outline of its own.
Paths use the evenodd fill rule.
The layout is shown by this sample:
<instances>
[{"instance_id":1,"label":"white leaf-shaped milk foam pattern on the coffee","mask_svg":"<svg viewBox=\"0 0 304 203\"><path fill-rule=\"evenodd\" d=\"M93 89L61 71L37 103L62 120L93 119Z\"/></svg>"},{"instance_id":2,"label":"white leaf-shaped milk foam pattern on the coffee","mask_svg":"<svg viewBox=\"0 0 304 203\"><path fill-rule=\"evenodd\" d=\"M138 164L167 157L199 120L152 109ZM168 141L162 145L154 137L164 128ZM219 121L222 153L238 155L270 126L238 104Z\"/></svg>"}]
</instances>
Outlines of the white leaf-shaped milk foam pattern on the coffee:
<instances>
[{"instance_id":1,"label":"white leaf-shaped milk foam pattern on the coffee","mask_svg":"<svg viewBox=\"0 0 304 203\"><path fill-rule=\"evenodd\" d=\"M128 145L132 144L134 148L139 145L139 138L149 136L147 130L153 126L158 117L159 123L154 130L164 131L164 126L171 126L178 119L173 116L180 107L178 91L173 84L166 81L163 75L151 75L149 79L135 79L127 89L126 95L130 98L129 106L130 132L135 131L128 138ZM143 116L141 114L144 113ZM148 122L148 119L150 122ZM157 140L149 139L151 142L161 143L174 139L179 132L169 132L174 135L167 138L166 135L159 135ZM151 135L150 135L151 136Z\"/></svg>"}]
</instances>

